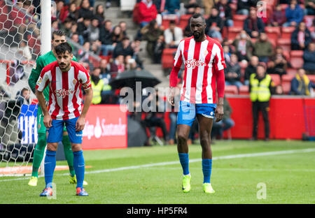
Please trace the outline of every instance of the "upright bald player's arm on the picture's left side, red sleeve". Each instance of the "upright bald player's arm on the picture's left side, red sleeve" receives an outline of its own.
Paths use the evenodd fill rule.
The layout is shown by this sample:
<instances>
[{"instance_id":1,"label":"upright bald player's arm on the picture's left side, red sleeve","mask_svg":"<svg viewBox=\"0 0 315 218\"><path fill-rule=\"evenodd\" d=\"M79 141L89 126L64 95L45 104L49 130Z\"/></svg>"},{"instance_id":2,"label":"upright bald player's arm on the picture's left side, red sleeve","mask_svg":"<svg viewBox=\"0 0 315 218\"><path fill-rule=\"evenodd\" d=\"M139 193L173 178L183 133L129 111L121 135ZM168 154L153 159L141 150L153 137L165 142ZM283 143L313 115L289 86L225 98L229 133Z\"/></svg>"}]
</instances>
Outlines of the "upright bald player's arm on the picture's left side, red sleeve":
<instances>
[{"instance_id":1,"label":"upright bald player's arm on the picture's left side, red sleeve","mask_svg":"<svg viewBox=\"0 0 315 218\"><path fill-rule=\"evenodd\" d=\"M179 47L177 48L175 57L174 57L174 66L172 68L171 74L169 75L169 88L170 88L170 92L169 95L167 96L167 101L169 101L169 103L172 106L175 106L175 102L174 102L174 87L176 87L177 85L177 79L179 77L179 70L181 69L181 64L183 64L183 57L182 57L182 46L183 46L184 41L181 41L181 43L179 43Z\"/></svg>"}]
</instances>

